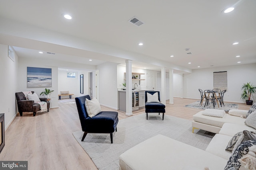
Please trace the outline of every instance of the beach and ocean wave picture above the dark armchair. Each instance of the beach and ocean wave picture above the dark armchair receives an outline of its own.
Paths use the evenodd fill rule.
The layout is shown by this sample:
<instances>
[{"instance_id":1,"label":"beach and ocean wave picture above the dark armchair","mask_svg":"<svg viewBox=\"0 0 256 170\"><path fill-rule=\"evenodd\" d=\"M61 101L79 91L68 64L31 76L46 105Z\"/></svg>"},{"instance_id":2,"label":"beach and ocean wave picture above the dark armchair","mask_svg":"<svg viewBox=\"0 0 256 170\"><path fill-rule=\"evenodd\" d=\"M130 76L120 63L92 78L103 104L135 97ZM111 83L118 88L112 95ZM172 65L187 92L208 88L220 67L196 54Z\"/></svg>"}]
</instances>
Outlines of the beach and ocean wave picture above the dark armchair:
<instances>
[{"instance_id":1,"label":"beach and ocean wave picture above the dark armchair","mask_svg":"<svg viewBox=\"0 0 256 170\"><path fill-rule=\"evenodd\" d=\"M27 67L27 87L52 87L52 68Z\"/></svg>"}]
</instances>

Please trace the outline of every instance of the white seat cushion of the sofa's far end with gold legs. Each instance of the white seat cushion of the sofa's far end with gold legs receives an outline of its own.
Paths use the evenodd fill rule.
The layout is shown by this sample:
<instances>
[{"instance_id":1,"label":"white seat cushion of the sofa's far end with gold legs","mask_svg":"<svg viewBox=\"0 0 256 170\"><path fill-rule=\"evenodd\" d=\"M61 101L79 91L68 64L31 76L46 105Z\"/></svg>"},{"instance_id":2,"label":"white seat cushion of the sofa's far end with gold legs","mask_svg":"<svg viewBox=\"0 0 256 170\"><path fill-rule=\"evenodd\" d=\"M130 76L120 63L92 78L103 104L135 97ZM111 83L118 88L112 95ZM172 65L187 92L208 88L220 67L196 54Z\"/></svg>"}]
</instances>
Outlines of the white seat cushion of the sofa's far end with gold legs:
<instances>
[{"instance_id":1,"label":"white seat cushion of the sofa's far end with gold legs","mask_svg":"<svg viewBox=\"0 0 256 170\"><path fill-rule=\"evenodd\" d=\"M238 125L244 125L244 121L245 121L244 118L229 115L229 114L225 114L223 117L212 117L212 116L202 115L202 113L203 111L199 111L198 113L193 115L193 120L200 123L217 126L217 127L222 127L224 123L235 123Z\"/></svg>"}]
</instances>

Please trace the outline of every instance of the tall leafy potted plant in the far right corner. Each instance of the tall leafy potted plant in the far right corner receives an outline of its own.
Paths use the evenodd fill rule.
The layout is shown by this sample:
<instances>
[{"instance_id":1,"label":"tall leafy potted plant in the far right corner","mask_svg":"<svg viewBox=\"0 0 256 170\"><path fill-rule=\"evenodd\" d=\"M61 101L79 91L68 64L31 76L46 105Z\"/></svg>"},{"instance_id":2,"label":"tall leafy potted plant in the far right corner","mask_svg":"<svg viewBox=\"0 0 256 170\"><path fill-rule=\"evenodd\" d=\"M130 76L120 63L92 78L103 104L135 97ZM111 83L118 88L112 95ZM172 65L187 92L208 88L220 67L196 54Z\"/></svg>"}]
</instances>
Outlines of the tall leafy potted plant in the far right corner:
<instances>
[{"instance_id":1,"label":"tall leafy potted plant in the far right corner","mask_svg":"<svg viewBox=\"0 0 256 170\"><path fill-rule=\"evenodd\" d=\"M256 86L253 86L251 82L243 84L241 87L242 94L241 99L245 100L247 105L252 105L253 101L250 100L252 94L256 94Z\"/></svg>"}]
</instances>

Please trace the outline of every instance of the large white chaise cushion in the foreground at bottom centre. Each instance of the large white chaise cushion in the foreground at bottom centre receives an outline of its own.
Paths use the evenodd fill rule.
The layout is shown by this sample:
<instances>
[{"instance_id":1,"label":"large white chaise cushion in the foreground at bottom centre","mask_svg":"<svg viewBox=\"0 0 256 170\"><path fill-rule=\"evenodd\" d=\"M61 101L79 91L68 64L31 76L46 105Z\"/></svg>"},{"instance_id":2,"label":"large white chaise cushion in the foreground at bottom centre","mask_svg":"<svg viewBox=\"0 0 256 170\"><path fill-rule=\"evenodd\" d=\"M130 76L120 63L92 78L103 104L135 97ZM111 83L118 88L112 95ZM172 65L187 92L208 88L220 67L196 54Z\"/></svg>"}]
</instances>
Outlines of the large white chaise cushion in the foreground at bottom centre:
<instances>
[{"instance_id":1,"label":"large white chaise cushion in the foreground at bottom centre","mask_svg":"<svg viewBox=\"0 0 256 170\"><path fill-rule=\"evenodd\" d=\"M182 170L187 166L222 170L226 164L224 158L164 135L147 139L119 157L120 170Z\"/></svg>"}]
</instances>

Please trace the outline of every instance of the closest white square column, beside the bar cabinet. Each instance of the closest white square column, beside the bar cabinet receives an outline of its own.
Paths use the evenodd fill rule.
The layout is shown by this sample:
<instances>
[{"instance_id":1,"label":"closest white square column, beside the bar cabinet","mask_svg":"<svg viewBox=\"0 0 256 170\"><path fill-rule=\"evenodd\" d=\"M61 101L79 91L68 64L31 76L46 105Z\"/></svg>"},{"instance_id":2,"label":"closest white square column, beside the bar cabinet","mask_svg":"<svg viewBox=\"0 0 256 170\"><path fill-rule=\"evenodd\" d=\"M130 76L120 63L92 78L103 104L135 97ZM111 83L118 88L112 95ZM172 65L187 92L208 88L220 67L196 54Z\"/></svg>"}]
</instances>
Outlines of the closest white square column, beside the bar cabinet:
<instances>
[{"instance_id":1,"label":"closest white square column, beside the bar cabinet","mask_svg":"<svg viewBox=\"0 0 256 170\"><path fill-rule=\"evenodd\" d=\"M126 116L132 115L132 61L126 60Z\"/></svg>"}]
</instances>

